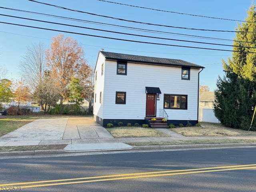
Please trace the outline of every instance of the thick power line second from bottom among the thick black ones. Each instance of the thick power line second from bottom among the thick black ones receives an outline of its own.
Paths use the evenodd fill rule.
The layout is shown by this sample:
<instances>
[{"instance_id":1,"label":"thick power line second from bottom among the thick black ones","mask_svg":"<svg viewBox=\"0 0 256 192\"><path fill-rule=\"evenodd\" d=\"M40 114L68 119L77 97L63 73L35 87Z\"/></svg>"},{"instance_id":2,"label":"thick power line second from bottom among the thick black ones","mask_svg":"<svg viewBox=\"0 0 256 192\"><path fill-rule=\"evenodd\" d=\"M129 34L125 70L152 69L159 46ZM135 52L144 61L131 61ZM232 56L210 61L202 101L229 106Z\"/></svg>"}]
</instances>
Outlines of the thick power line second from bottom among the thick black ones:
<instances>
[{"instance_id":1,"label":"thick power line second from bottom among the thick black ones","mask_svg":"<svg viewBox=\"0 0 256 192\"><path fill-rule=\"evenodd\" d=\"M70 26L70 27L77 27L77 28L83 28L83 29L89 29L89 30L97 30L97 31L101 31L101 32L111 32L111 33L116 33L116 34L124 34L124 35L131 35L131 36L137 36L137 37L146 37L146 38L154 38L154 39L162 39L162 40L172 40L172 41L179 41L179 42L210 44L210 45L219 45L219 46L241 47L241 46L235 46L235 45L216 44L216 43L207 43L207 42L198 42L198 41L179 40L179 39L170 39L170 38L162 38L162 37L155 37L155 36L130 34L130 33L124 33L124 32L116 32L116 31L95 29L95 28L89 28L89 27L83 27L83 26L75 26L75 25L70 25L70 24L62 24L62 23L43 21L43 20L37 20L37 19L31 19L31 18L24 18L24 17L18 17L18 16L10 16L10 15L5 15L5 14L0 14L0 16L8 16L8 17L12 17L12 18L26 19L26 20L30 20L30 21L44 22L44 23L57 24L57 25ZM245 46L243 46L243 47L244 48L252 48L252 47L245 47Z\"/></svg>"}]
</instances>

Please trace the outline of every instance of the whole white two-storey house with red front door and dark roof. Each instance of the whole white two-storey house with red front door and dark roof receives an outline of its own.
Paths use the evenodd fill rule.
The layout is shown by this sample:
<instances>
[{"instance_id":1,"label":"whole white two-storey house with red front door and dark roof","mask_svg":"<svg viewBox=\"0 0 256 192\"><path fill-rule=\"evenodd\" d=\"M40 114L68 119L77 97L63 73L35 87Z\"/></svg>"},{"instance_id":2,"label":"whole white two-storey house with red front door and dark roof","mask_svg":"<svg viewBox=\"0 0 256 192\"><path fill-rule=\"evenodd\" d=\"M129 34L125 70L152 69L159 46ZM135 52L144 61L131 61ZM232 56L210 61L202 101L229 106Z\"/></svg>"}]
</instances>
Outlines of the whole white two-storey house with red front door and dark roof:
<instances>
[{"instance_id":1,"label":"whole white two-storey house with red front door and dark roof","mask_svg":"<svg viewBox=\"0 0 256 192\"><path fill-rule=\"evenodd\" d=\"M168 115L168 123L198 122L199 73L183 60L100 51L94 70L94 119L106 126L147 122Z\"/></svg>"}]
</instances>

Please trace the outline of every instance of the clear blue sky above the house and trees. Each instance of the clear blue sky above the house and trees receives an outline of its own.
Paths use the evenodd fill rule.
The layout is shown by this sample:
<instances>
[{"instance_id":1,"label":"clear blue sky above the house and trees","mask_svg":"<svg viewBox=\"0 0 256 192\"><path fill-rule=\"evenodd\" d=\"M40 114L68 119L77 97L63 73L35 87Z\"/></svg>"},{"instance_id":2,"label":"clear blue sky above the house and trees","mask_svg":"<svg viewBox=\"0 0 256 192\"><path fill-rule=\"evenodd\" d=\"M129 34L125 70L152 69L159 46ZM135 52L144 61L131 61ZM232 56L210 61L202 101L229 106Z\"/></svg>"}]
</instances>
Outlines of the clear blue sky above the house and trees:
<instances>
[{"instance_id":1,"label":"clear blue sky above the house and trees","mask_svg":"<svg viewBox=\"0 0 256 192\"><path fill-rule=\"evenodd\" d=\"M209 29L209 30L225 30L234 31L238 21L231 20L244 20L247 17L246 10L252 4L251 0L109 0L111 2L118 2L122 4L130 4L133 6L147 7L158 10L165 10L169 12L156 11L150 9L136 8L132 6L125 6L120 4L113 4L99 0L38 0L56 6L62 6L72 10L80 10L97 15L110 16L114 18L121 18L125 20L133 20L144 23L160 24L166 26L175 26L182 28L196 28L196 29ZM234 32L214 32L205 30L191 30L181 28L171 28L156 25L148 25L134 22L127 22L85 14L81 12L74 12L64 10L53 6L31 2L29 0L0 0L0 14L8 16L18 16L24 18L32 18L44 20L48 22L56 22L62 24L70 24L74 26L83 26L87 28L96 28L100 30L111 30L115 32L130 33L144 36L154 36L161 38L170 38L176 40L188 40L197 42L206 42L214 44L232 45L235 37ZM114 27L109 25L92 24L89 22L77 22L71 20L64 20L60 18L53 18L49 16L42 16L38 14L30 14L20 11L7 10L4 8L12 8L18 10L25 10L30 12L39 12L43 14L51 14L56 16L63 16L69 18L76 18L92 22L102 22L108 24L115 24L120 26L128 26L133 28L142 28L147 30L157 30L161 32L171 32L178 34L188 34L194 36L204 36L211 38L221 38L228 40L209 40L204 38L192 38L177 34L163 34L152 33L138 30L131 30L127 28ZM178 12L184 14L170 13ZM225 18L230 20L212 19L199 16L190 16L186 14L208 16L214 18ZM114 34L110 32L89 30L83 28L76 28L71 26L62 26L57 24L42 23L31 20L24 20L19 18L11 18L8 16L0 16L0 22L8 22L14 24L22 24L40 28L49 28L54 30L78 32L82 34L90 34L96 36L105 36L110 38L120 38L127 40L136 40L143 42L154 42L160 44L171 44L178 46L194 46L202 48L213 48L232 50L230 46L217 46L210 44L200 44L191 42L181 42L174 40L161 40L154 38L145 38L138 36L130 36L124 34ZM104 48L108 52L117 52L123 54L134 54L142 56L153 56L160 58L181 59L192 62L205 69L200 73L200 84L207 85L213 91L216 88L216 80L218 75L223 76L222 59L227 60L232 52L218 51L218 50L204 50L196 48L184 48L178 46L164 46L156 44L144 44L136 42L127 42L121 40L112 40L106 38L92 37L79 34L71 34L67 32L56 32L50 30L28 28L24 26L15 26L10 24L0 23L0 64L5 65L8 69L7 78L19 79L18 64L22 56L25 55L26 47L31 46L32 43L44 43L50 47L51 39L59 33L64 36L71 36L82 45L85 52L85 58L88 64L94 66L96 64L98 51ZM170 82L171 86L171 82Z\"/></svg>"}]
</instances>

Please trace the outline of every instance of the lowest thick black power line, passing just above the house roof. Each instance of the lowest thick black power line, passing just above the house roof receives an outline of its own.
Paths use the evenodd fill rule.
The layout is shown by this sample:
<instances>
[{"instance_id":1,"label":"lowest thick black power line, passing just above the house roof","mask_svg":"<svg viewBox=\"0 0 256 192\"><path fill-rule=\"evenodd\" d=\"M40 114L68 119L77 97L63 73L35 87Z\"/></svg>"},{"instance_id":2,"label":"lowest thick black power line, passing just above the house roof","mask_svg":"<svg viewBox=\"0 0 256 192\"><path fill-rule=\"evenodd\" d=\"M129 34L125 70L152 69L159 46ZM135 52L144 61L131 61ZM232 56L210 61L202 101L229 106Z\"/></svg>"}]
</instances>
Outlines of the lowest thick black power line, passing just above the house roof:
<instances>
[{"instance_id":1,"label":"lowest thick black power line, passing just above the house roof","mask_svg":"<svg viewBox=\"0 0 256 192\"><path fill-rule=\"evenodd\" d=\"M126 41L126 42L136 42L136 43L145 43L145 44L154 44L154 45L164 45L164 46L175 46L175 47L185 47L185 48L196 48L196 49L205 49L205 50L218 50L218 51L240 52L240 51L237 51L237 50L224 50L224 49L214 49L214 48L202 48L202 47L194 47L194 46L182 46L182 45L172 45L172 44L162 44L162 43L154 43L154 42L144 42L144 41L120 39L120 38L105 37L105 36L84 34L84 33L78 33L78 32L70 32L70 31L63 31L63 30L56 30L56 29L49 29L49 28L42 28L42 27L35 27L35 26L28 26L28 25L22 25L22 24L14 24L14 23L8 23L8 22L0 22L0 23L3 23L3 24L10 24L10 25L16 25L16 26L23 26L23 27L29 27L29 28L36 28L36 29L44 29L44 30L50 30L50 31L57 31L57 32L65 32L65 33L78 34L78 35L85 35L85 36L91 36L91 37L99 37L99 38L112 39L112 40L121 40L121 41ZM256 53L256 52L244 52L244 53Z\"/></svg>"}]
</instances>

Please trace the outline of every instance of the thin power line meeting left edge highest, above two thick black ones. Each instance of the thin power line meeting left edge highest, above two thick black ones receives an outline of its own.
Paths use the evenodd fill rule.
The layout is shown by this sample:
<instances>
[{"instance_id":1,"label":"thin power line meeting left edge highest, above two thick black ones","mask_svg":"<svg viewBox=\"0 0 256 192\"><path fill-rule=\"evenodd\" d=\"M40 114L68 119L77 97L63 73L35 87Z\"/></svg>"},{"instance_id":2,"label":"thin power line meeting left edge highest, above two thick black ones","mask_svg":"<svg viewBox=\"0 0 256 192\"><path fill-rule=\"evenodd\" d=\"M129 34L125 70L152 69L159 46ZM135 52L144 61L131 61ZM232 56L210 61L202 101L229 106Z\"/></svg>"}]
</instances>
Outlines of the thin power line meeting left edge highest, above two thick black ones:
<instances>
[{"instance_id":1,"label":"thin power line meeting left edge highest, above two thick black ones","mask_svg":"<svg viewBox=\"0 0 256 192\"><path fill-rule=\"evenodd\" d=\"M238 40L230 40L230 39L222 39L222 38L214 38L214 37L206 37L206 36L196 36L196 35L165 32L165 31L158 31L158 30L148 30L148 29L143 29L143 28L135 28L135 27L128 27L128 26L102 23L102 22L94 22L94 21L88 21L88 20L82 20L82 19L76 19L76 18L69 18L69 17L63 17L63 16L56 16L56 15L51 15L51 14L31 12L31 11L25 11L25 10L18 10L18 9L13 9L13 8L6 8L6 7L0 7L0 8L7 9L7 10L26 12L26 13L31 13L31 14L39 14L39 15L43 15L43 16L49 16L49 17L55 17L55 18L61 18L61 19L67 19L67 20L73 20L73 21L78 21L78 22L88 22L88 23L92 23L92 24L100 24L100 25L102 24L102 25L108 25L108 26L116 26L116 27L120 27L120 28L128 28L128 29L131 29L131 30L139 30L139 31L145 31L145 32L152 32L152 33L174 34L174 35L178 35L178 36L189 36L189 37L192 37L192 38L244 42L244 41L238 41ZM252 42L248 42L248 43L252 43Z\"/></svg>"}]
</instances>

